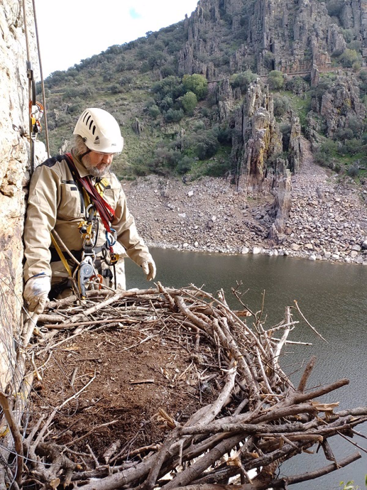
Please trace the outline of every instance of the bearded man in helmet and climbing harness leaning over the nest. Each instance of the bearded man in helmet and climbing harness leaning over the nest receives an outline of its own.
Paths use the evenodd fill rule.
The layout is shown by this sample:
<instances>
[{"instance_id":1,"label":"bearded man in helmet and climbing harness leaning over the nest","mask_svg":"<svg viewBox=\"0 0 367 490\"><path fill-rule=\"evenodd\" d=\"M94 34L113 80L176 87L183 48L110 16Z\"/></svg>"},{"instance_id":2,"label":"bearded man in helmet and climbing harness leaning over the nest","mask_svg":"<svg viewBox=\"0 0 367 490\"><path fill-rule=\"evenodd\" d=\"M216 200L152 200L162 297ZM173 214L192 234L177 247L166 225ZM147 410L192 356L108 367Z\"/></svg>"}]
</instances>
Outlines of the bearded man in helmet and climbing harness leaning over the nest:
<instances>
[{"instance_id":1,"label":"bearded man in helmet and climbing harness leaning over the nest","mask_svg":"<svg viewBox=\"0 0 367 490\"><path fill-rule=\"evenodd\" d=\"M24 298L42 313L47 298L90 287L116 287L118 242L147 280L156 266L139 237L121 184L110 166L123 148L115 118L88 108L74 129L71 153L48 158L32 175L24 227Z\"/></svg>"}]
</instances>

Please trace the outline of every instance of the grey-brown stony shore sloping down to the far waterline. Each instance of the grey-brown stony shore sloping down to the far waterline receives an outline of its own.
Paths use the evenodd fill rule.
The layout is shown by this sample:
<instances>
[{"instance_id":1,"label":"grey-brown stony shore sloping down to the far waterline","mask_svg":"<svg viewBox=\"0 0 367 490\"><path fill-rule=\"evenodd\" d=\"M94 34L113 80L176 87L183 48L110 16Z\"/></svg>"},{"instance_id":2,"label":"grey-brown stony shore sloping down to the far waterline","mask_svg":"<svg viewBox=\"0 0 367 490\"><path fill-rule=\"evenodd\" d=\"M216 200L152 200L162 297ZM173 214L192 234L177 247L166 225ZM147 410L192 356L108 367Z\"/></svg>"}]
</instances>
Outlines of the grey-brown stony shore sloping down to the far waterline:
<instances>
[{"instance_id":1,"label":"grey-brown stony shore sloping down to the far waterline","mask_svg":"<svg viewBox=\"0 0 367 490\"><path fill-rule=\"evenodd\" d=\"M263 253L367 265L367 186L356 186L305 155L292 177L292 208L281 242L270 192L236 192L224 179L184 184L157 175L124 181L128 207L147 245L220 253Z\"/></svg>"}]
</instances>

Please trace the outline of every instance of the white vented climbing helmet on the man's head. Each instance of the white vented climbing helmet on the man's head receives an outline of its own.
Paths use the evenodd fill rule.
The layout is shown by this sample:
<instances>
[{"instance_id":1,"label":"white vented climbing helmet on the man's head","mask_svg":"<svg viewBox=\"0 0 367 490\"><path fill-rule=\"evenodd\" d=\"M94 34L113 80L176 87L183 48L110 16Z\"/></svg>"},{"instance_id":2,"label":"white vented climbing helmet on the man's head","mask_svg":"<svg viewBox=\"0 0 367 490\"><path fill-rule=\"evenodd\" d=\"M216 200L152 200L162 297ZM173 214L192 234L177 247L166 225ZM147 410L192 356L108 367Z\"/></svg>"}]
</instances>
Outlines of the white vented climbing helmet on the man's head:
<instances>
[{"instance_id":1,"label":"white vented climbing helmet on the man's head","mask_svg":"<svg viewBox=\"0 0 367 490\"><path fill-rule=\"evenodd\" d=\"M90 107L78 119L73 134L79 134L86 146L102 153L119 153L124 147L120 127L103 109Z\"/></svg>"}]
</instances>

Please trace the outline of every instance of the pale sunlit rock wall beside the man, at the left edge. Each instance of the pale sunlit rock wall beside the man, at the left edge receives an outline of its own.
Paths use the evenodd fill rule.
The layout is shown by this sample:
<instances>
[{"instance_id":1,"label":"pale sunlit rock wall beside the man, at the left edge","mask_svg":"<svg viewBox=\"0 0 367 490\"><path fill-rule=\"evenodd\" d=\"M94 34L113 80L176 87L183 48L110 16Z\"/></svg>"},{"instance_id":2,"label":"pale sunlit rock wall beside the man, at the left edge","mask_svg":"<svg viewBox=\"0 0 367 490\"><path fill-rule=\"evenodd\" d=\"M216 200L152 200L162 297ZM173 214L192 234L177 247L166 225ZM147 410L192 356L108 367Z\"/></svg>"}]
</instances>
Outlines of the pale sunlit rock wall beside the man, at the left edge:
<instances>
[{"instance_id":1,"label":"pale sunlit rock wall beside the man, at the left edge","mask_svg":"<svg viewBox=\"0 0 367 490\"><path fill-rule=\"evenodd\" d=\"M27 1L29 23L31 1ZM31 51L35 52L31 25ZM8 337L19 325L23 290L24 188L28 181L28 80L22 2L3 0L0 9L0 364ZM20 299L17 300L16 296ZM9 344L11 345L11 344ZM0 367L2 374L3 369ZM3 388L4 378L0 379Z\"/></svg>"}]
</instances>

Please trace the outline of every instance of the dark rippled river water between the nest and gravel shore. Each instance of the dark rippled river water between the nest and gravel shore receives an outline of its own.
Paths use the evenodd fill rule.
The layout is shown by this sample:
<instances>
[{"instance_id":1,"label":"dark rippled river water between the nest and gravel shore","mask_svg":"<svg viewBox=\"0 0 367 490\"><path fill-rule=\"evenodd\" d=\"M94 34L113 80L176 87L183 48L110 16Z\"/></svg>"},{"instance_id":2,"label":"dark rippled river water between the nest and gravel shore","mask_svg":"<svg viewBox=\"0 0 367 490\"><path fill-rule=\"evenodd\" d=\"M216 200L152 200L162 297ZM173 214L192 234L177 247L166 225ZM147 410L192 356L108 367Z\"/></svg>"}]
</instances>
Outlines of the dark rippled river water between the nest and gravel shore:
<instances>
[{"instance_id":1,"label":"dark rippled river water between the nest and gravel shore","mask_svg":"<svg viewBox=\"0 0 367 490\"><path fill-rule=\"evenodd\" d=\"M182 252L175 250L151 249L157 265L156 280L165 287L184 287L193 283L215 294L223 288L226 299L233 309L241 309L231 288L242 281L244 302L253 310L261 309L262 294L265 290L267 328L284 318L285 306L298 305L321 335L323 342L306 325L298 325L288 337L289 340L311 342L311 346L290 345L282 356L282 368L296 384L299 379L299 364L307 362L312 355L317 364L308 382L308 388L326 385L341 378L348 378L350 384L321 398L322 401L340 402L340 408L367 405L367 267L313 262L290 257L269 257L263 255L232 255ZM145 281L140 268L126 260L127 288L145 289ZM357 426L357 431L367 435L367 423ZM367 440L355 436L353 441L367 448ZM332 438L331 446L338 459L354 453L357 448L342 438ZM315 446L316 447L316 446ZM365 488L367 474L367 454L351 465L334 471L317 480L292 486L297 490L339 489L341 480L354 480ZM312 471L330 462L322 451L310 455L302 453L280 468L284 475L294 475Z\"/></svg>"}]
</instances>

